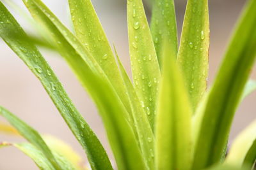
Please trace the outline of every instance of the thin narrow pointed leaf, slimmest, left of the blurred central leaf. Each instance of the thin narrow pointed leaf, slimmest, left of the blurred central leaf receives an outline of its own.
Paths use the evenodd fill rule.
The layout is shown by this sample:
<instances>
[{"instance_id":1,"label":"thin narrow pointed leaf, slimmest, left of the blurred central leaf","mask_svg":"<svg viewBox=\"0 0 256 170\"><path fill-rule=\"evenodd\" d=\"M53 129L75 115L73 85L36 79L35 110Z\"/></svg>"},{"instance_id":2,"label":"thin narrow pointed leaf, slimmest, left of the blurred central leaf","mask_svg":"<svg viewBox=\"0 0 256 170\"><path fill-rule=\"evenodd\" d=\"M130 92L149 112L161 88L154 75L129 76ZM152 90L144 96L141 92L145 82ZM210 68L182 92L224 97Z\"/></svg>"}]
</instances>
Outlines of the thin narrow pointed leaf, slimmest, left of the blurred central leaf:
<instances>
[{"instance_id":1,"label":"thin narrow pointed leaf, slimmest, left of the blurred central leaf","mask_svg":"<svg viewBox=\"0 0 256 170\"><path fill-rule=\"evenodd\" d=\"M118 57L117 52L116 58L118 60L118 66L120 68L126 91L129 96L129 102L132 106L132 116L134 119L136 132L138 134L138 141L140 143L141 153L145 159L145 162L147 162L148 169L154 169L155 138L147 118L147 115L150 114L150 110L147 110L146 114L145 110L143 110L143 108L141 107L138 95L136 94L132 82L129 79L129 76L127 75L122 62Z\"/></svg>"}]
</instances>

